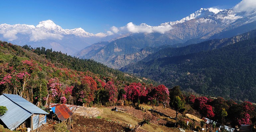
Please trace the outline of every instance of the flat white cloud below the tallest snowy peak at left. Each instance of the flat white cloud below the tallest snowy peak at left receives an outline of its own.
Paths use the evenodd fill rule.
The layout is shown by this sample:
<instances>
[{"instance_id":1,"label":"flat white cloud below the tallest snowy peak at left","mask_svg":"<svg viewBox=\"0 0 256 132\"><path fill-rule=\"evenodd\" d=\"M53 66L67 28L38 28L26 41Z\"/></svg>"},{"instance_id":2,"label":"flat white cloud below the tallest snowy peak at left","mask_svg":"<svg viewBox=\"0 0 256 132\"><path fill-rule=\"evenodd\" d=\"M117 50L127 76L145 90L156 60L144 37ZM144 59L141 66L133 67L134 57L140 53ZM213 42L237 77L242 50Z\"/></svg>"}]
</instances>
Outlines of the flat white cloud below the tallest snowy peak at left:
<instances>
[{"instance_id":1,"label":"flat white cloud below the tallest snowy peak at left","mask_svg":"<svg viewBox=\"0 0 256 132\"><path fill-rule=\"evenodd\" d=\"M63 38L60 34L48 33L40 30L33 30L30 36L30 41L39 41L44 39L59 39Z\"/></svg>"}]
</instances>

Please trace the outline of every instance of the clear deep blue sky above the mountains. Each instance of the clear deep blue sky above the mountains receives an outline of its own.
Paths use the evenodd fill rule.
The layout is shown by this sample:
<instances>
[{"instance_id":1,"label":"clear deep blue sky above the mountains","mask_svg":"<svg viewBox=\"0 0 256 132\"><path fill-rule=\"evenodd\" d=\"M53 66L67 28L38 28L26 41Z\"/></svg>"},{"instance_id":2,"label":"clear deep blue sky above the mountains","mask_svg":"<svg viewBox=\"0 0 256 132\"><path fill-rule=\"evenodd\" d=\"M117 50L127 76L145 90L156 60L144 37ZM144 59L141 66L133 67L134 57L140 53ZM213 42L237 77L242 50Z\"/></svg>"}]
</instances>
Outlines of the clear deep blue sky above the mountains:
<instances>
[{"instance_id":1,"label":"clear deep blue sky above the mountains","mask_svg":"<svg viewBox=\"0 0 256 132\"><path fill-rule=\"evenodd\" d=\"M1 1L0 24L37 25L53 20L64 29L106 33L129 22L157 26L180 20L200 8L228 9L241 0L13 0Z\"/></svg>"}]
</instances>

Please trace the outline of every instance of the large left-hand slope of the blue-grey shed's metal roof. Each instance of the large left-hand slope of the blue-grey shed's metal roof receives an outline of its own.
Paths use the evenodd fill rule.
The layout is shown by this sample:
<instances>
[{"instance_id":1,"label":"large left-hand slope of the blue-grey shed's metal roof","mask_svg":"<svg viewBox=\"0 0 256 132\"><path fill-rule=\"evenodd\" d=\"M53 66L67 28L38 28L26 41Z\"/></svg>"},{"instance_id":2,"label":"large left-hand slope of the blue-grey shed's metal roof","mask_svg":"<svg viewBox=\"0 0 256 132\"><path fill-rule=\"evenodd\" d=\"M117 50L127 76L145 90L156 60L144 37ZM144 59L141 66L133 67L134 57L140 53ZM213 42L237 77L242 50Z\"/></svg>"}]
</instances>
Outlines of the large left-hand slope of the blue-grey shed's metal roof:
<instances>
[{"instance_id":1,"label":"large left-hand slope of the blue-grey shed's metal roof","mask_svg":"<svg viewBox=\"0 0 256 132\"><path fill-rule=\"evenodd\" d=\"M33 113L24 110L22 107L18 106L4 95L0 96L0 106L6 106L8 109L8 111L1 116L0 119L11 130L14 130L27 118L33 115Z\"/></svg>"}]
</instances>

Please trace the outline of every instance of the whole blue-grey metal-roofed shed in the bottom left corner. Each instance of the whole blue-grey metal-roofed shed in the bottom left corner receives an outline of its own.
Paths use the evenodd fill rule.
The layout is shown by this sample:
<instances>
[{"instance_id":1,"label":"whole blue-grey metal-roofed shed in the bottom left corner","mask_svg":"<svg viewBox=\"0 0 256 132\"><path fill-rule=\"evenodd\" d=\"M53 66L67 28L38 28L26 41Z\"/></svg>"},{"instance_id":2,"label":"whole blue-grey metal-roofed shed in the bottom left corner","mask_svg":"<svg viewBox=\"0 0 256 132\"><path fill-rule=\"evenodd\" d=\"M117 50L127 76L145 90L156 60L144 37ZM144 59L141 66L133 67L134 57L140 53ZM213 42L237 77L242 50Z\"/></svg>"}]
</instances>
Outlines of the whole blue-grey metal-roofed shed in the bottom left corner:
<instances>
[{"instance_id":1,"label":"whole blue-grey metal-roofed shed in the bottom left corner","mask_svg":"<svg viewBox=\"0 0 256 132\"><path fill-rule=\"evenodd\" d=\"M10 130L14 130L25 123L26 127L33 131L46 123L48 113L19 95L1 95L0 106L5 106L8 109L3 116L0 116L0 123L3 123L2 125Z\"/></svg>"}]
</instances>

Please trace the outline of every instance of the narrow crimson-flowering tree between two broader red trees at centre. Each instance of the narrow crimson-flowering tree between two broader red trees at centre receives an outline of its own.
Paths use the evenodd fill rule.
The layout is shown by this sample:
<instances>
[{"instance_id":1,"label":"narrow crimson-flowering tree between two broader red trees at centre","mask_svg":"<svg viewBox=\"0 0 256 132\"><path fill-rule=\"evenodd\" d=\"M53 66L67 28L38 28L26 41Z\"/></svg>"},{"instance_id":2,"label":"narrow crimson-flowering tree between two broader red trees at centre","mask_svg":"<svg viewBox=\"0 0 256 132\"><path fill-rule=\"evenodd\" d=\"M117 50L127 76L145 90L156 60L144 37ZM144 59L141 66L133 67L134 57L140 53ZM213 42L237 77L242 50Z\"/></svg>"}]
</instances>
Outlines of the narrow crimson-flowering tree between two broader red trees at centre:
<instances>
[{"instance_id":1,"label":"narrow crimson-flowering tree between two broader red trees at centre","mask_svg":"<svg viewBox=\"0 0 256 132\"><path fill-rule=\"evenodd\" d=\"M105 90L109 93L109 102L116 103L117 101L117 87L114 86L113 82L108 81L104 86Z\"/></svg>"}]
</instances>

